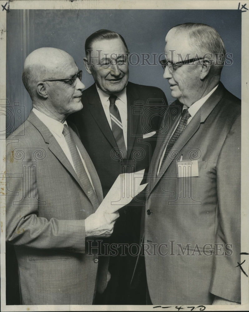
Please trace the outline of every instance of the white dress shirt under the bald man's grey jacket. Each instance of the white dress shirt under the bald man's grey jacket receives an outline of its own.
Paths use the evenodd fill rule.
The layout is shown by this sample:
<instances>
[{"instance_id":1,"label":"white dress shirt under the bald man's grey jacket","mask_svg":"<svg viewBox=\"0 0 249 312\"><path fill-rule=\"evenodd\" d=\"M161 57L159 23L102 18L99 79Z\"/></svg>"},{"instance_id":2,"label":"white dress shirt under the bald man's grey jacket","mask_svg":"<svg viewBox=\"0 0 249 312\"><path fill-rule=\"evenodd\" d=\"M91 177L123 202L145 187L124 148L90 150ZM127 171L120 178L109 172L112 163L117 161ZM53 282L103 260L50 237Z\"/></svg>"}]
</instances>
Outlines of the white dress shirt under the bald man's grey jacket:
<instances>
[{"instance_id":1,"label":"white dress shirt under the bald man's grey jacket","mask_svg":"<svg viewBox=\"0 0 249 312\"><path fill-rule=\"evenodd\" d=\"M64 123L62 124L60 121L57 121L47 115L45 115L44 113L40 112L39 110L33 108L32 109L34 114L43 122L43 124L45 124L45 126L49 129L49 131L53 134L53 136L55 137L56 141L58 142L58 144L60 145L61 149L63 150L64 154L66 155L66 158L69 160L69 162L71 163L72 167L74 168L74 164L73 164L73 159L70 153L70 150L68 148L68 145L66 143L66 139L64 137L64 135L62 134L63 128L64 128L64 124L67 125L66 120L64 121ZM77 145L76 145L77 147ZM84 159L81 156L81 153L77 147L78 153L80 155L81 161L83 163L83 166L85 168L85 171L87 173L87 176L92 184L93 187L93 183L90 177L90 173L88 171L88 169L86 168ZM75 171L75 168L74 168ZM94 187L93 187L94 189Z\"/></svg>"}]
</instances>

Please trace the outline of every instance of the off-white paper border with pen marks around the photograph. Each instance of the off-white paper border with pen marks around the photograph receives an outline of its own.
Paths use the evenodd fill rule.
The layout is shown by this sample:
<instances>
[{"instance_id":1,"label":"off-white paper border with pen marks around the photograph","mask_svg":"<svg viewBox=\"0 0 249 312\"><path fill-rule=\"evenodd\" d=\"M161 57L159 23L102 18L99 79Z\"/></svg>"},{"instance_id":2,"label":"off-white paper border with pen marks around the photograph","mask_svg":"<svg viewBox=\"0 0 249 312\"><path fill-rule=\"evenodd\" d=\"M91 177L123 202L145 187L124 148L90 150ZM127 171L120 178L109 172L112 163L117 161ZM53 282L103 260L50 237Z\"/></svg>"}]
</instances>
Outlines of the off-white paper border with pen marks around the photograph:
<instances>
[{"instance_id":1,"label":"off-white paper border with pen marks around the photograph","mask_svg":"<svg viewBox=\"0 0 249 312\"><path fill-rule=\"evenodd\" d=\"M174 10L241 10L242 14L242 76L241 76L241 96L242 96L242 190L241 190L241 252L249 253L249 95L248 95L248 78L249 78L249 10L243 10L243 5L249 9L249 2L239 2L234 0L223 0L223 1L195 1L195 0L155 0L155 1L124 1L124 0L106 0L106 1L97 1L97 0L19 0L19 1L0 1L1 10L0 10L0 24L1 24L1 41L0 41L0 100L1 105L6 102L6 16L8 14L8 9L134 9L134 10L152 10L152 9L174 9ZM1 115L0 115L0 129L1 133L6 127L5 116L4 115L4 105L1 106ZM1 223L1 233L0 233L0 265L1 265L1 311L99 311L99 310L121 310L121 311L150 311L150 310L168 310L164 306L160 306L155 309L155 306L99 306L99 305L38 305L38 306L27 306L27 305L6 305L6 293L5 293L5 284L6 284L6 275L5 275L5 173L6 173L6 162L5 162L5 139L0 137L0 151L1 151L1 160L0 160L0 184L1 184L1 196L0 196L0 223ZM245 260L243 268L248 274L249 271L249 256L242 255L241 262ZM205 306L207 311L237 311L244 310L247 311L249 308L249 278L241 273L241 294L242 294L242 303L241 305L215 305L215 306ZM183 309L181 311L189 311L187 306L182 305ZM177 311L178 309L175 309ZM196 309L194 311L198 311Z\"/></svg>"}]
</instances>

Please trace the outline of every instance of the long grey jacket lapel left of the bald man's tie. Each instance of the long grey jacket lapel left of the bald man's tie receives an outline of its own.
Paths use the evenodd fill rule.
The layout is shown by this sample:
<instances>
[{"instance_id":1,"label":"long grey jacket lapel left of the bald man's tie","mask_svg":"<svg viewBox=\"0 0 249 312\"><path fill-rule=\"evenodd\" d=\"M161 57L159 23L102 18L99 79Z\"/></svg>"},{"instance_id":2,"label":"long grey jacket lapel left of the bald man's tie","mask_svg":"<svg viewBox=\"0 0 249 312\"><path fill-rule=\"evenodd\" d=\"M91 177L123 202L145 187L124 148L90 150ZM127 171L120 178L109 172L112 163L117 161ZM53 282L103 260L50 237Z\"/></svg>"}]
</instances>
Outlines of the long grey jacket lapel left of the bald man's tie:
<instances>
[{"instance_id":1,"label":"long grey jacket lapel left of the bald man's tie","mask_svg":"<svg viewBox=\"0 0 249 312\"><path fill-rule=\"evenodd\" d=\"M81 184L74 168L72 167L70 161L64 154L63 150L61 149L59 143L57 142L53 134L51 134L51 132L45 126L45 124L43 124L43 122L32 111L30 112L30 115L28 116L27 120L31 122L33 126L36 127L36 129L41 133L44 141L48 144L48 148L51 151L51 153L53 153L55 157L60 161L62 166L64 166L71 173L71 175L75 178L75 180L81 186L82 190L87 196L87 190Z\"/></svg>"}]
</instances>

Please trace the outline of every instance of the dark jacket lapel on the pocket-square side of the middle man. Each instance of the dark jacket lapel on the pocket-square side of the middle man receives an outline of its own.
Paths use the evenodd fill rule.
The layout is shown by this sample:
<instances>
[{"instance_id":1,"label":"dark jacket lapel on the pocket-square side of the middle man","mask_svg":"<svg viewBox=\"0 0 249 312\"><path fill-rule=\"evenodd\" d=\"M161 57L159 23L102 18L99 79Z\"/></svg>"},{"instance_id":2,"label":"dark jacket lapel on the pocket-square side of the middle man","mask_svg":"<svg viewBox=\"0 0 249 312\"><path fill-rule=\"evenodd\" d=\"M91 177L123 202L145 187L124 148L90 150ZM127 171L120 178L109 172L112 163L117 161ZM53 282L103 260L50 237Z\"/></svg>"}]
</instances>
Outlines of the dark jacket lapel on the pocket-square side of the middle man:
<instances>
[{"instance_id":1,"label":"dark jacket lapel on the pocket-square side of the middle man","mask_svg":"<svg viewBox=\"0 0 249 312\"><path fill-rule=\"evenodd\" d=\"M127 96L127 159L129 159L132 151L134 141L137 134L138 124L140 124L141 114L134 114L132 107L134 107L135 100L139 99L136 88L128 82L126 87Z\"/></svg>"}]
</instances>

